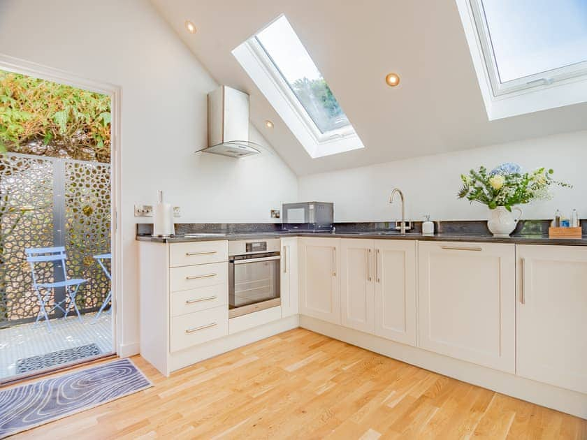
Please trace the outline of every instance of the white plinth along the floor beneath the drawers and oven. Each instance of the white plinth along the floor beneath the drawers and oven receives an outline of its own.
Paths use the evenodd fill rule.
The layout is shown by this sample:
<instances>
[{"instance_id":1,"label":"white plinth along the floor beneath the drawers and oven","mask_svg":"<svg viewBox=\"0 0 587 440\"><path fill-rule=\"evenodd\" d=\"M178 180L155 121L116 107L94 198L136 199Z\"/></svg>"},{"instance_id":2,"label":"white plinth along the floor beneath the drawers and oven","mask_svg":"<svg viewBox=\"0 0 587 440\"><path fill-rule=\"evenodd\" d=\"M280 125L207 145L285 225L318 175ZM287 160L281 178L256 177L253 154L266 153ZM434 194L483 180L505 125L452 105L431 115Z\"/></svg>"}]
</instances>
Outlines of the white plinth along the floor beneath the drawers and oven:
<instances>
[{"instance_id":1,"label":"white plinth along the floor beneath the drawers and oven","mask_svg":"<svg viewBox=\"0 0 587 440\"><path fill-rule=\"evenodd\" d=\"M185 349L172 353L170 355L170 371L173 372L177 369L187 367L188 365L200 362L201 360L212 358L226 351L238 349L239 347L253 342L260 341L266 337L277 335L278 333L286 332L293 328L299 327L299 316L293 315L287 318L282 318L279 321L273 321L259 327L251 328L249 330L243 330L242 332L235 333L233 335L224 336L219 339L215 339L205 344L200 344L192 347L191 349Z\"/></svg>"}]
</instances>

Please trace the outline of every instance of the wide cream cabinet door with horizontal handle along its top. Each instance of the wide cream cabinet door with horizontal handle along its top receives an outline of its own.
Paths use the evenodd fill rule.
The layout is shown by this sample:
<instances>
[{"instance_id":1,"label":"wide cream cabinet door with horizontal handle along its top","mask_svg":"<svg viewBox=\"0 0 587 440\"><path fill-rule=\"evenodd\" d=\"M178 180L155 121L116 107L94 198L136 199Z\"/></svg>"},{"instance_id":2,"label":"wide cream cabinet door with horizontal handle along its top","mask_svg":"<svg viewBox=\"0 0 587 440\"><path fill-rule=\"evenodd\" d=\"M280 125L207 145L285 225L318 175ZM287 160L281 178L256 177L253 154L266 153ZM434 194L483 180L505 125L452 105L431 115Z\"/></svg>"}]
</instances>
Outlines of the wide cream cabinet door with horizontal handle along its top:
<instances>
[{"instance_id":1,"label":"wide cream cabinet door with horizontal handle along its top","mask_svg":"<svg viewBox=\"0 0 587 440\"><path fill-rule=\"evenodd\" d=\"M419 346L515 372L514 244L419 242Z\"/></svg>"}]
</instances>

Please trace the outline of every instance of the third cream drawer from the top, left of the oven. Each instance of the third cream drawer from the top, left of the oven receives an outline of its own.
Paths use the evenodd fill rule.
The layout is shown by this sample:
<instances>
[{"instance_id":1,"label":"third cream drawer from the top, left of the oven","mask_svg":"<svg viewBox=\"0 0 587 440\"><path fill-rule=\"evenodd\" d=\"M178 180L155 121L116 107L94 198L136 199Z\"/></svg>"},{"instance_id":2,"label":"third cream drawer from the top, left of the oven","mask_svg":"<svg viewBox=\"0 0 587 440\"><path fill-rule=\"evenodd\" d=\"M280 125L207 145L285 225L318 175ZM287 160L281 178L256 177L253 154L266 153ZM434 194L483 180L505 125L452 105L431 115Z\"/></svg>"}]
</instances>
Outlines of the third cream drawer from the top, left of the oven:
<instances>
[{"instance_id":1,"label":"third cream drawer from the top, left of the oven","mask_svg":"<svg viewBox=\"0 0 587 440\"><path fill-rule=\"evenodd\" d=\"M212 309L229 303L229 286L216 284L171 293L171 316L179 316L194 311Z\"/></svg>"}]
</instances>

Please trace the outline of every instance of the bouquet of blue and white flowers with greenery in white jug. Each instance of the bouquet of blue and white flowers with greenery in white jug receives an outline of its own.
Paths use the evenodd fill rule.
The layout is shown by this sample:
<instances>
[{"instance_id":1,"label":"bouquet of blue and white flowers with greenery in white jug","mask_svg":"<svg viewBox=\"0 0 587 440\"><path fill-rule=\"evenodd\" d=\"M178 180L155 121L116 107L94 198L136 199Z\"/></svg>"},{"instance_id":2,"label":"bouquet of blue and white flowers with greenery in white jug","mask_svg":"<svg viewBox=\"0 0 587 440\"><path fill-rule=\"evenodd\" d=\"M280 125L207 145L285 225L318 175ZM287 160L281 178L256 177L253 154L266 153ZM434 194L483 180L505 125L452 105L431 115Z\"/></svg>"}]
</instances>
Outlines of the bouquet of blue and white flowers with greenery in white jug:
<instances>
[{"instance_id":1,"label":"bouquet of blue and white flowers with greenery in white jug","mask_svg":"<svg viewBox=\"0 0 587 440\"><path fill-rule=\"evenodd\" d=\"M572 187L553 179L553 173L552 169L544 167L532 173L522 173L521 168L512 163L504 163L491 172L481 166L478 170L470 170L468 175L461 175L463 186L458 191L458 198L482 203L490 210L503 206L511 211L514 205L551 198L551 186Z\"/></svg>"}]
</instances>

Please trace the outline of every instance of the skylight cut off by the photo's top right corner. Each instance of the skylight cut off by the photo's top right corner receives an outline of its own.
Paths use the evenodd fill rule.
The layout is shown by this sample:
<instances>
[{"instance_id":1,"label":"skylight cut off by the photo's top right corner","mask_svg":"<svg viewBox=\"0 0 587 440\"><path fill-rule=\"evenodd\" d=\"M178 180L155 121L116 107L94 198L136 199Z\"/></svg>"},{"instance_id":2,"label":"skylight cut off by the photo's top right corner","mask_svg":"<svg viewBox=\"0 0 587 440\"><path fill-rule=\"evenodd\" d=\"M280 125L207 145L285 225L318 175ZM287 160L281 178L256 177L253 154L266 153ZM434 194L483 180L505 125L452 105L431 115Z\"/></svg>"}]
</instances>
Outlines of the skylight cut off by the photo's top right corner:
<instances>
[{"instance_id":1,"label":"skylight cut off by the photo's top right corner","mask_svg":"<svg viewBox=\"0 0 587 440\"><path fill-rule=\"evenodd\" d=\"M587 101L587 2L456 0L489 119Z\"/></svg>"}]
</instances>

